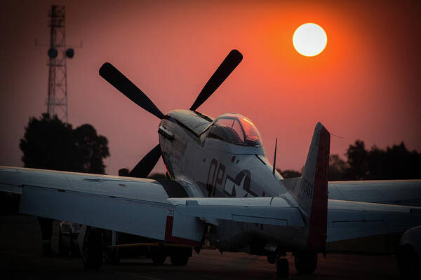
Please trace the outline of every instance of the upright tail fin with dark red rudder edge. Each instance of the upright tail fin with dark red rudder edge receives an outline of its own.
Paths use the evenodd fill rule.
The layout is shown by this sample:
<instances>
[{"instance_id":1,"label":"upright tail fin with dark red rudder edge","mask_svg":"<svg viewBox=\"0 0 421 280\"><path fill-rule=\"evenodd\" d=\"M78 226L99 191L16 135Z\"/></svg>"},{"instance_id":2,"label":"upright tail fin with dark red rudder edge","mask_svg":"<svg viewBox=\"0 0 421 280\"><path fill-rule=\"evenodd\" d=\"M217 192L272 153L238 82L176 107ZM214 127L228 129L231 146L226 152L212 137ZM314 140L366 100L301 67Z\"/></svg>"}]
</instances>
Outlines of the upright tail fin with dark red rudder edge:
<instances>
[{"instance_id":1,"label":"upright tail fin with dark red rudder edge","mask_svg":"<svg viewBox=\"0 0 421 280\"><path fill-rule=\"evenodd\" d=\"M302 176L283 180L307 224L306 249L309 251L324 252L326 248L329 151L330 133L317 123Z\"/></svg>"}]
</instances>

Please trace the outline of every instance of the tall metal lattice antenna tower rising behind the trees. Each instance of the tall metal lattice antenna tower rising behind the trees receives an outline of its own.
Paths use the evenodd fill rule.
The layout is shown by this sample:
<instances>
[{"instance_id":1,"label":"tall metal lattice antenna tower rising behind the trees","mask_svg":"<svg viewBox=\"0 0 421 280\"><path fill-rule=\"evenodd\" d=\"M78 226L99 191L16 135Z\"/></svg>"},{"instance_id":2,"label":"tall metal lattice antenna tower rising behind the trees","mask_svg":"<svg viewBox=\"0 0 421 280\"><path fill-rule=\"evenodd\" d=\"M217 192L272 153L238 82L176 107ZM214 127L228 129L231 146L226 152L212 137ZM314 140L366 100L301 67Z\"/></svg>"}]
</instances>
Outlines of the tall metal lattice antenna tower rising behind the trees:
<instances>
[{"instance_id":1,"label":"tall metal lattice antenna tower rising behind the trees","mask_svg":"<svg viewBox=\"0 0 421 280\"><path fill-rule=\"evenodd\" d=\"M48 49L48 98L47 112L67 123L67 70L66 59L74 50L66 46L65 6L51 6L48 12L50 48Z\"/></svg>"}]
</instances>

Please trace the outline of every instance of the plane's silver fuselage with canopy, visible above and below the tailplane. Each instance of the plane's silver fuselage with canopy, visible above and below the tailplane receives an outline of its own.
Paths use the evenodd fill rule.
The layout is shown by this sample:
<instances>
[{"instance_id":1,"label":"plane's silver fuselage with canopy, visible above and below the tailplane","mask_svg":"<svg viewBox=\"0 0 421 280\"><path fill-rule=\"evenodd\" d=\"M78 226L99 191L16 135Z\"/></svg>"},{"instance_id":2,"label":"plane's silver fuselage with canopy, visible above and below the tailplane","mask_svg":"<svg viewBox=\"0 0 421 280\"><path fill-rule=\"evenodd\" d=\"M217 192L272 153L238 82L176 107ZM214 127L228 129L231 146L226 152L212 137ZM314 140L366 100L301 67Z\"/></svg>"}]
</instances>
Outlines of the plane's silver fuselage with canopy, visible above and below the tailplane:
<instances>
[{"instance_id":1,"label":"plane's silver fuselage with canopy, visible above and below the tailplane","mask_svg":"<svg viewBox=\"0 0 421 280\"><path fill-rule=\"evenodd\" d=\"M273 172L258 130L248 118L227 113L210 118L189 110L167 113L159 124L159 143L168 176L189 197L282 197L297 202ZM262 254L267 242L300 246L297 229L219 221L206 238L221 251ZM272 241L271 241L272 240ZM265 253L263 253L265 254Z\"/></svg>"}]
</instances>

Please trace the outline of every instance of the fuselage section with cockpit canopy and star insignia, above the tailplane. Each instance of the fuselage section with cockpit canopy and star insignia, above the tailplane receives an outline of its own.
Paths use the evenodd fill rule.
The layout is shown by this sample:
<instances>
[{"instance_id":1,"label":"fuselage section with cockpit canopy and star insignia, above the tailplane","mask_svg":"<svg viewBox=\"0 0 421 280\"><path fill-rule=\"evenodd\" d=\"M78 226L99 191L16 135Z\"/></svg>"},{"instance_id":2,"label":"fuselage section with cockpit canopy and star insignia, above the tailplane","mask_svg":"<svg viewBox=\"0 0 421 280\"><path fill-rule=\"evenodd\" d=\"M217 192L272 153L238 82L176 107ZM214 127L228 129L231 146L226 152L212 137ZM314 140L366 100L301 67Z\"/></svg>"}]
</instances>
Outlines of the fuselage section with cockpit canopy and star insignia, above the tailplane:
<instances>
[{"instance_id":1,"label":"fuselage section with cockpit canopy and star insignia, above the tailplane","mask_svg":"<svg viewBox=\"0 0 421 280\"><path fill-rule=\"evenodd\" d=\"M169 176L187 180L201 190L191 196L264 197L286 193L279 182L281 175L273 173L267 160L257 129L239 114L214 119L189 110L171 111L159 124L159 143Z\"/></svg>"}]
</instances>

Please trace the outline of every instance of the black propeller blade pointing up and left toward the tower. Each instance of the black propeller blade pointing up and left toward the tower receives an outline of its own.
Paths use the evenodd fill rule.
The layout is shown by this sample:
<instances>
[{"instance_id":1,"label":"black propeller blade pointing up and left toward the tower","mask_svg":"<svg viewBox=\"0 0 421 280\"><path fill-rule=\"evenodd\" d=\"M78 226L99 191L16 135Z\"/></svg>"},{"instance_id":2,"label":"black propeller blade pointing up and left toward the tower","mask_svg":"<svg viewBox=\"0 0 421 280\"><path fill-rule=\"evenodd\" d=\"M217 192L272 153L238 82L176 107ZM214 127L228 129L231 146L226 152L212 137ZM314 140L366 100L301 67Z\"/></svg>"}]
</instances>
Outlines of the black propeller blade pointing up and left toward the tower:
<instances>
[{"instance_id":1,"label":"black propeller blade pointing up and left toward the tower","mask_svg":"<svg viewBox=\"0 0 421 280\"><path fill-rule=\"evenodd\" d=\"M159 111L154 102L147 97L134 83L131 82L126 76L123 75L111 63L105 62L100 68L100 76L105 78L108 83L119 90L122 94L126 95L128 99L138 104L140 107L154 114L158 118L163 118L163 113Z\"/></svg>"}]
</instances>

